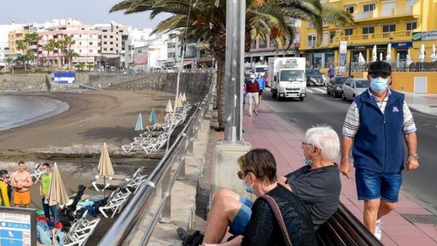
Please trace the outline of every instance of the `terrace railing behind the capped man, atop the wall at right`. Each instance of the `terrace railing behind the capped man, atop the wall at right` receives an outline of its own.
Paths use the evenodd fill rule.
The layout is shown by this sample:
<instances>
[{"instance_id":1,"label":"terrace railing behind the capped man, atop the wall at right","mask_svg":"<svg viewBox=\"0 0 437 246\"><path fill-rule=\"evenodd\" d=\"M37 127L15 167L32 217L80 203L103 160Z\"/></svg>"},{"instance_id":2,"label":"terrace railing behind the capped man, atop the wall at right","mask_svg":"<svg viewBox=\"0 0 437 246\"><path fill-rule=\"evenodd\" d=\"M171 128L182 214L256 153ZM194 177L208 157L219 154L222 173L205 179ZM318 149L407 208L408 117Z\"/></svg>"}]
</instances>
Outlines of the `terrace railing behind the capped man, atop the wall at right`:
<instances>
[{"instance_id":1,"label":"terrace railing behind the capped man, atop the wall at right","mask_svg":"<svg viewBox=\"0 0 437 246\"><path fill-rule=\"evenodd\" d=\"M437 59L389 60L392 72L437 72ZM351 72L367 72L372 62L353 62ZM349 63L346 63L349 71Z\"/></svg>"}]
</instances>

